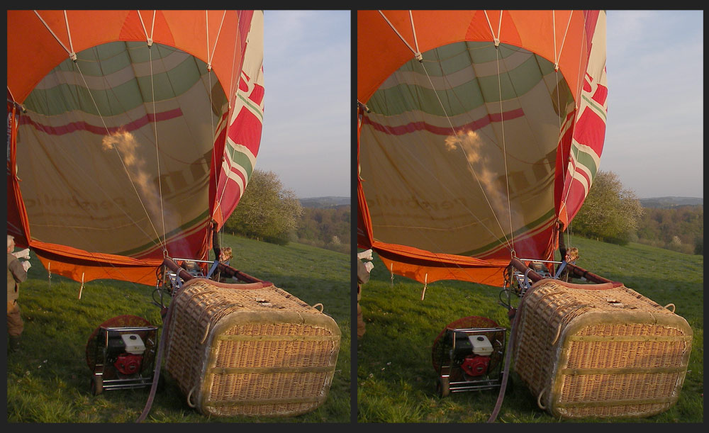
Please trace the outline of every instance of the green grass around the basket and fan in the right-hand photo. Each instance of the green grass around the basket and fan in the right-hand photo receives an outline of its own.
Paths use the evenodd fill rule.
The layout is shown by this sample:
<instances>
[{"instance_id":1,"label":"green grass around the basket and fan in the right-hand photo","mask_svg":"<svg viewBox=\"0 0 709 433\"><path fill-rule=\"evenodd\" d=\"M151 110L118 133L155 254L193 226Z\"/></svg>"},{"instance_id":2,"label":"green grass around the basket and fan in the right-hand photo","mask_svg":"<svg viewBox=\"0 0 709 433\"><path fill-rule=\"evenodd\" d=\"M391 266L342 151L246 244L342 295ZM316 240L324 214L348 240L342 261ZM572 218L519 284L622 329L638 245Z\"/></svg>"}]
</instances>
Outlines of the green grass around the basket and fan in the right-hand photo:
<instances>
[{"instance_id":1,"label":"green grass around the basket and fan in the right-hand photo","mask_svg":"<svg viewBox=\"0 0 709 433\"><path fill-rule=\"evenodd\" d=\"M703 257L642 244L620 247L578 237L571 241L567 246L578 247L581 254L579 266L622 281L660 305L674 303L675 313L693 329L679 402L654 417L614 421L703 422ZM498 390L440 398L435 391L431 347L437 334L460 317L489 317L509 329L506 308L498 305L500 288L437 281L428 284L423 300L422 291L423 283L401 276L395 275L392 282L389 271L375 257L360 301L367 332L357 345L358 422L486 422L495 407ZM514 373L510 377L513 388L508 388L498 423L559 422L537 407L535 396L519 380L514 381Z\"/></svg>"}]
</instances>

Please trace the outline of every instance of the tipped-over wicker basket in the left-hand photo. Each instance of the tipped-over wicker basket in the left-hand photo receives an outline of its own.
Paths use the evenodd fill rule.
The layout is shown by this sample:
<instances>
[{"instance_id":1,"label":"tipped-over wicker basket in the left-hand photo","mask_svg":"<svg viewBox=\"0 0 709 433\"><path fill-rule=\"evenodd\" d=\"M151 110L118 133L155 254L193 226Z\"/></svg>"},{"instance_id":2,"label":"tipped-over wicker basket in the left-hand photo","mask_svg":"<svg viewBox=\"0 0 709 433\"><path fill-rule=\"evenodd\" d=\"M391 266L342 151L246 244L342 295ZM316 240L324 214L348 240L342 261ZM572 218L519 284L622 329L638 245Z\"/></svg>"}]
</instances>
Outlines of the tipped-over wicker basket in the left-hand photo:
<instances>
[{"instance_id":1,"label":"tipped-over wicker basket in the left-hand photo","mask_svg":"<svg viewBox=\"0 0 709 433\"><path fill-rule=\"evenodd\" d=\"M204 415L290 416L328 397L332 317L270 283L187 281L170 308L165 368Z\"/></svg>"}]
</instances>

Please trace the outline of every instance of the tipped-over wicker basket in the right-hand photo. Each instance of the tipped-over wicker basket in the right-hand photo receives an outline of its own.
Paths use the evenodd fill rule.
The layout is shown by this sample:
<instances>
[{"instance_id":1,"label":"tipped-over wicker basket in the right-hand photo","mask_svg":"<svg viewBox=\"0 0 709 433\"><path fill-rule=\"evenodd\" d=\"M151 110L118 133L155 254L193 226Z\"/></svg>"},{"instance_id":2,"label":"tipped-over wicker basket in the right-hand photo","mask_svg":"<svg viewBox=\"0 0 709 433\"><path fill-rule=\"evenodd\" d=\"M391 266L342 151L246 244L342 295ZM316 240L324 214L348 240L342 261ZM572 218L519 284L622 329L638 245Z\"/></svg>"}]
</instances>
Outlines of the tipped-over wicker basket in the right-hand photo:
<instances>
[{"instance_id":1,"label":"tipped-over wicker basket in the right-hand photo","mask_svg":"<svg viewBox=\"0 0 709 433\"><path fill-rule=\"evenodd\" d=\"M555 417L646 417L679 398L691 327L623 284L544 279L519 314L515 371Z\"/></svg>"}]
</instances>

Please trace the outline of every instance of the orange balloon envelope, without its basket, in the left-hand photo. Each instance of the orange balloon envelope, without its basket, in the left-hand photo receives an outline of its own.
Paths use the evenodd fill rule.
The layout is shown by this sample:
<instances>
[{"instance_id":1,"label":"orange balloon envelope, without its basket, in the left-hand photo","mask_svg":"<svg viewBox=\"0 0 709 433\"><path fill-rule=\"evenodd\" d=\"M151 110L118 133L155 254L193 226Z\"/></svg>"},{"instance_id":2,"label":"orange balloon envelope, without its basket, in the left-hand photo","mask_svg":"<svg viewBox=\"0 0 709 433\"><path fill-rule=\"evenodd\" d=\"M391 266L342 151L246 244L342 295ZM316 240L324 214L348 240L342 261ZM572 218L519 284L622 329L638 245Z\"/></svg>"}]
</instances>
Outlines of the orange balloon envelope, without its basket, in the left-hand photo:
<instances>
[{"instance_id":1,"label":"orange balloon envelope, without its basket, in the left-hand photo","mask_svg":"<svg viewBox=\"0 0 709 433\"><path fill-rule=\"evenodd\" d=\"M52 274L206 259L264 111L262 11L8 11L8 233Z\"/></svg>"}]
</instances>

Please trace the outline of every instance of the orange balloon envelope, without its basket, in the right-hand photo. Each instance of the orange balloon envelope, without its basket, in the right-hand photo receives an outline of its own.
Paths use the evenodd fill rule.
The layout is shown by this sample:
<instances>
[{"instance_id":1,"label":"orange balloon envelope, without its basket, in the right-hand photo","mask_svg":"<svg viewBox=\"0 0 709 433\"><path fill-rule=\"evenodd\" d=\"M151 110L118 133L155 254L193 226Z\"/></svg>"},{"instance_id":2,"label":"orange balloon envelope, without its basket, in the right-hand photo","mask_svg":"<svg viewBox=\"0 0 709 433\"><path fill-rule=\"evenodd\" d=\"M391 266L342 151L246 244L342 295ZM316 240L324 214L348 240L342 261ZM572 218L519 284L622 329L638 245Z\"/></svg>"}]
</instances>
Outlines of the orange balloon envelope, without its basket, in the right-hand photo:
<instances>
[{"instance_id":1,"label":"orange balloon envelope, without its basket, in the right-hand photo","mask_svg":"<svg viewBox=\"0 0 709 433\"><path fill-rule=\"evenodd\" d=\"M551 261L606 95L603 11L358 11L359 247L428 283Z\"/></svg>"}]
</instances>

